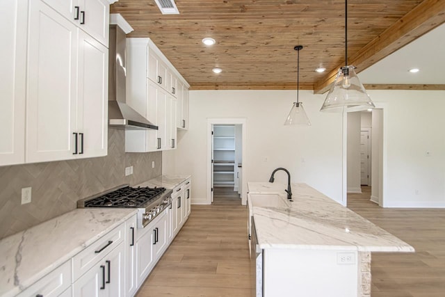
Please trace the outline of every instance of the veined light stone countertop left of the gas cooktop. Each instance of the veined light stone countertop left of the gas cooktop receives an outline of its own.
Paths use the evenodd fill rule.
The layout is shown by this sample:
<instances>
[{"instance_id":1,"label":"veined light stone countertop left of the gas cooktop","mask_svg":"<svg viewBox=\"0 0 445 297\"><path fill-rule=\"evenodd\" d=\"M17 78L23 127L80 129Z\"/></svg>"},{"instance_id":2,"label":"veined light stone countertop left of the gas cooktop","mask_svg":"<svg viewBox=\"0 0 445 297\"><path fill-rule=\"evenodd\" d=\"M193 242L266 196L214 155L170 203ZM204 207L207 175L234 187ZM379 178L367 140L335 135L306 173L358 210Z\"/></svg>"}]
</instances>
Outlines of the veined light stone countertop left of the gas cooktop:
<instances>
[{"instance_id":1,"label":"veined light stone countertop left of the gas cooktop","mask_svg":"<svg viewBox=\"0 0 445 297\"><path fill-rule=\"evenodd\" d=\"M136 214L75 209L0 240L0 296L15 296Z\"/></svg>"}]
</instances>

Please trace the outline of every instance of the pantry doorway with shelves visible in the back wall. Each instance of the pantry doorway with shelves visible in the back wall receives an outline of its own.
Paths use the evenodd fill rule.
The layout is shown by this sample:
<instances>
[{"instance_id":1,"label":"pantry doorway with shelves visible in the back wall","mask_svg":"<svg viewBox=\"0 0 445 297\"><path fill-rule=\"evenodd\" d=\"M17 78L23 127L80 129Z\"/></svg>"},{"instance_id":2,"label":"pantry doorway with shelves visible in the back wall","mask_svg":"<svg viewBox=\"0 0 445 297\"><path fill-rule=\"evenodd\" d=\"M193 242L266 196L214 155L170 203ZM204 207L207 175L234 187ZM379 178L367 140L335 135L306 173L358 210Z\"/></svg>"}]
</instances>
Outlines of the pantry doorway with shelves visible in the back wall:
<instances>
[{"instance_id":1,"label":"pantry doorway with shelves visible in the back wall","mask_svg":"<svg viewBox=\"0 0 445 297\"><path fill-rule=\"evenodd\" d=\"M238 200L245 204L245 119L207 120L207 202Z\"/></svg>"}]
</instances>

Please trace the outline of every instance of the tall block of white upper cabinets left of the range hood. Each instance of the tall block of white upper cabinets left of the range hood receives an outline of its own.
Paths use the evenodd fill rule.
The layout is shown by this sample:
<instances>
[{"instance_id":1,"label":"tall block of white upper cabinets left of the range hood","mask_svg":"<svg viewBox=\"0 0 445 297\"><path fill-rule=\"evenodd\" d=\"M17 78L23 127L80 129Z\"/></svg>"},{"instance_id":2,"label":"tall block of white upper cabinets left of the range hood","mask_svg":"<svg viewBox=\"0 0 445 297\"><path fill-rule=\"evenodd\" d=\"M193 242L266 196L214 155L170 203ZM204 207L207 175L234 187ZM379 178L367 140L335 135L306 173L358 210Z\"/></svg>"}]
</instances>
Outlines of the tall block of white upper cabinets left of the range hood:
<instances>
[{"instance_id":1,"label":"tall block of white upper cabinets left of the range hood","mask_svg":"<svg viewBox=\"0 0 445 297\"><path fill-rule=\"evenodd\" d=\"M103 29L73 20L79 5ZM0 8L0 166L105 156L109 2L12 0Z\"/></svg>"}]
</instances>

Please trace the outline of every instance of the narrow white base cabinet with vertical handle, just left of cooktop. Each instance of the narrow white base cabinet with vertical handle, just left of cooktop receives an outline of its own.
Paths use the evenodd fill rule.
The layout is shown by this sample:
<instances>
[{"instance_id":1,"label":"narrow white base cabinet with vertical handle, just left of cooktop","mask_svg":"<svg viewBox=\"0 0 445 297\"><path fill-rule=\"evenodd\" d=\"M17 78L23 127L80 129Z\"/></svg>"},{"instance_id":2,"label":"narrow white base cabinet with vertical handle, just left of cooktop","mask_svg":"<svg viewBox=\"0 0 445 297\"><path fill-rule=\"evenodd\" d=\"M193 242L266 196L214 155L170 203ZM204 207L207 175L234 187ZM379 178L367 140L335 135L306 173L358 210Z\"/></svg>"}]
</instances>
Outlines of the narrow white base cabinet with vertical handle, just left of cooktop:
<instances>
[{"instance_id":1,"label":"narrow white base cabinet with vertical handle, just left of cooktop","mask_svg":"<svg viewBox=\"0 0 445 297\"><path fill-rule=\"evenodd\" d=\"M136 216L125 222L125 296L133 296L138 289L136 281Z\"/></svg>"}]
</instances>

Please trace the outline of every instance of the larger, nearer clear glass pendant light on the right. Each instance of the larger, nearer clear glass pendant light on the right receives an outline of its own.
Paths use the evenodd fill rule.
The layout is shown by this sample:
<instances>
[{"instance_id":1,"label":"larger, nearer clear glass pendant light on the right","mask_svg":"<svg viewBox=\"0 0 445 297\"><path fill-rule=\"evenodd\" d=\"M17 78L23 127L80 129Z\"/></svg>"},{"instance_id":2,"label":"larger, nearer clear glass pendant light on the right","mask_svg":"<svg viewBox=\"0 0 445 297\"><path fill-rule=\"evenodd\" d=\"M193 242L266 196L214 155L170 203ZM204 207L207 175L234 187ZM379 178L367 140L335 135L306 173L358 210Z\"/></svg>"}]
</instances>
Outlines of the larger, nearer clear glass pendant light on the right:
<instances>
[{"instance_id":1,"label":"larger, nearer clear glass pendant light on the right","mask_svg":"<svg viewBox=\"0 0 445 297\"><path fill-rule=\"evenodd\" d=\"M348 0L345 0L345 66L337 72L320 111L366 111L374 107L371 97L355 74L355 66L348 65Z\"/></svg>"}]
</instances>

